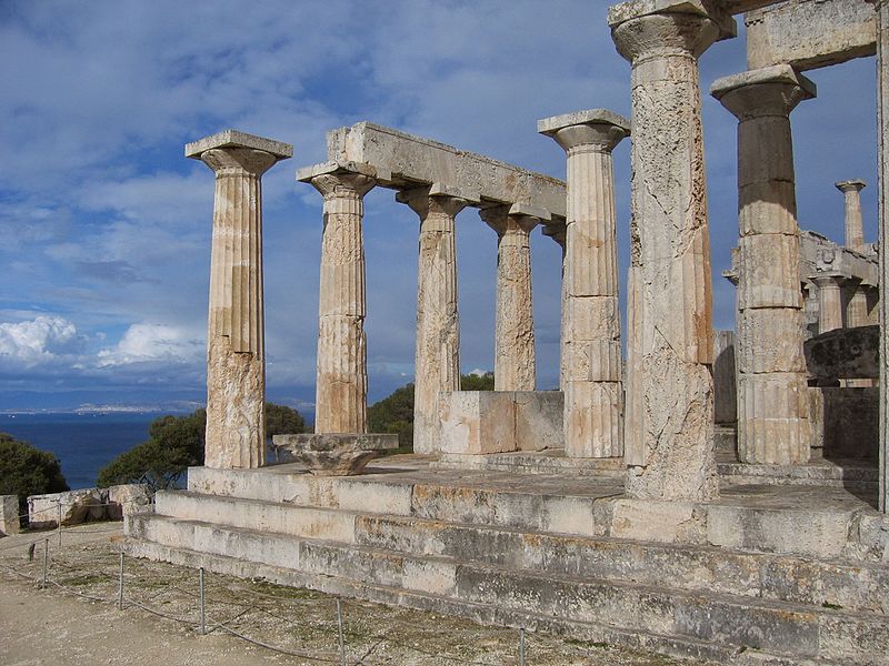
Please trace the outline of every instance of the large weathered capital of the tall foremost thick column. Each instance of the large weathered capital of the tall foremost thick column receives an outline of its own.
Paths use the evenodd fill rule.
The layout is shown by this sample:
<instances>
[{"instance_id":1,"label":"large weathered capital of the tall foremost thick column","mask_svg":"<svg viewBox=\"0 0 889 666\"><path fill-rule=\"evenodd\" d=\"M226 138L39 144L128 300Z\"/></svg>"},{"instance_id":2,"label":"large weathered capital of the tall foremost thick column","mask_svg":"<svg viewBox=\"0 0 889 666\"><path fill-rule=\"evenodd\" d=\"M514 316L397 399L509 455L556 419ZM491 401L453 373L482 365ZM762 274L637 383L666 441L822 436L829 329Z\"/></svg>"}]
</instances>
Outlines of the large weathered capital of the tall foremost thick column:
<instances>
[{"instance_id":1,"label":"large weathered capital of the tall foremost thick column","mask_svg":"<svg viewBox=\"0 0 889 666\"><path fill-rule=\"evenodd\" d=\"M737 34L735 19L711 0L630 0L611 7L608 24L630 62L652 56L703 53Z\"/></svg>"}]
</instances>

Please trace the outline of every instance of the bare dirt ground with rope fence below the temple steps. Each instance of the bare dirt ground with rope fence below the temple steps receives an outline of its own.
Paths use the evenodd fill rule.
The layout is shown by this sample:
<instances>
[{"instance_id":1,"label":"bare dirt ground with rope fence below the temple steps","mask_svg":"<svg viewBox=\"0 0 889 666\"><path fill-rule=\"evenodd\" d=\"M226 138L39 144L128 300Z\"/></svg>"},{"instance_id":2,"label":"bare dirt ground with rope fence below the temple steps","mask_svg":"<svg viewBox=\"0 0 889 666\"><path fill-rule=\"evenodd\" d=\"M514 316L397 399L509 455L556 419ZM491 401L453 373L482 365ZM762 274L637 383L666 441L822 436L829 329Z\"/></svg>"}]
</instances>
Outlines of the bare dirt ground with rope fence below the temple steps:
<instances>
[{"instance_id":1,"label":"bare dirt ground with rope fence below the temple steps","mask_svg":"<svg viewBox=\"0 0 889 666\"><path fill-rule=\"evenodd\" d=\"M47 538L48 583L41 588ZM207 634L201 635L198 572L124 558L120 610L121 524L66 529L61 547L57 539L56 533L0 539L0 664L4 666L340 664L334 597L207 573ZM34 544L32 561L30 544ZM354 599L341 603L348 664L519 663L516 629ZM549 634L527 633L525 648L528 666L703 664Z\"/></svg>"}]
</instances>

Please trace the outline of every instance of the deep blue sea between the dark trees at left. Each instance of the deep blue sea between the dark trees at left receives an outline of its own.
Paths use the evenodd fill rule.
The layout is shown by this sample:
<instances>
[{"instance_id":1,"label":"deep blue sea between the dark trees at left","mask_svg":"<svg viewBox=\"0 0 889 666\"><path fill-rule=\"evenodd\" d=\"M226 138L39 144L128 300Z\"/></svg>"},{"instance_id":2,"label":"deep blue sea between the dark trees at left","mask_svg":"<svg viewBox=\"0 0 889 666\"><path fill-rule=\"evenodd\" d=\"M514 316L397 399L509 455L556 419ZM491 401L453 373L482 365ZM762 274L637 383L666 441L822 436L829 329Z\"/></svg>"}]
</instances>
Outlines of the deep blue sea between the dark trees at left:
<instances>
[{"instance_id":1,"label":"deep blue sea between the dark trees at left","mask_svg":"<svg viewBox=\"0 0 889 666\"><path fill-rule=\"evenodd\" d=\"M148 440L148 426L158 416L161 414L0 414L0 432L54 453L68 485L77 490L94 486L101 467Z\"/></svg>"}]
</instances>

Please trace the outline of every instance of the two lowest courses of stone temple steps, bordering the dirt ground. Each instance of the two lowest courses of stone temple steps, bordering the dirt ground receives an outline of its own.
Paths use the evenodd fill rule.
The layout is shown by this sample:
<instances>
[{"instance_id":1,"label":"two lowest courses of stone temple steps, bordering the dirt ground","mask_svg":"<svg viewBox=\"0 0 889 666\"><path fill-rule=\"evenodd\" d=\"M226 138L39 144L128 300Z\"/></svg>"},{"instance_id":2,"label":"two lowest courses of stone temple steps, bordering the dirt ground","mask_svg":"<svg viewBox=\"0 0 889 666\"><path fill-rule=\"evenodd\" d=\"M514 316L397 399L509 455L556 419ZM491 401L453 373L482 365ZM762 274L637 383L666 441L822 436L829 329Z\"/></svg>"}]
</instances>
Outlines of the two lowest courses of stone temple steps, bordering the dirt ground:
<instances>
[{"instance_id":1,"label":"two lowest courses of stone temple steps, bordering the dirt ground","mask_svg":"<svg viewBox=\"0 0 889 666\"><path fill-rule=\"evenodd\" d=\"M803 663L798 658L885 664L889 653L889 619L876 614L581 573L543 574L163 515L134 515L127 533L134 537L128 549L136 555L200 562L236 575L268 576L263 567L273 567L268 577L287 584L512 626L542 622L593 640L720 663L730 663L742 647L753 648L745 658L765 650L758 662L749 662L763 664ZM578 627L582 630L575 634Z\"/></svg>"}]
</instances>

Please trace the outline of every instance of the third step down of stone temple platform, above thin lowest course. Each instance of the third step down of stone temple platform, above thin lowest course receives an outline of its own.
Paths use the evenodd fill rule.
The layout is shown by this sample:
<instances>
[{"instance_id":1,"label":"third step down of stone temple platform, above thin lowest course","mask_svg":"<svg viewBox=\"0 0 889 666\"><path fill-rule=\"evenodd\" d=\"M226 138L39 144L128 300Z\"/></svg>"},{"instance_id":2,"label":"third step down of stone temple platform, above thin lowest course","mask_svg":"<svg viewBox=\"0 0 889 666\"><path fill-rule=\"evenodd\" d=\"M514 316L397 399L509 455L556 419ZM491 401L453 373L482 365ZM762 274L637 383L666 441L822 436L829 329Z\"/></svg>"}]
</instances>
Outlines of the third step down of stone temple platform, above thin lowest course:
<instances>
[{"instance_id":1,"label":"third step down of stone temple platform, above thin lowest course","mask_svg":"<svg viewBox=\"0 0 889 666\"><path fill-rule=\"evenodd\" d=\"M516 612L543 610L569 622L610 624L629 632L675 634L818 658L859 659L889 652L889 622L881 616L620 581L509 571L296 537L277 536L267 547L266 535L254 531L150 515L133 521L130 534L167 546L186 546L308 574L357 577ZM284 545L287 538L292 542L290 555ZM284 559L269 562L270 551Z\"/></svg>"}]
</instances>

